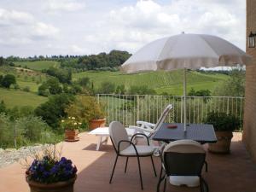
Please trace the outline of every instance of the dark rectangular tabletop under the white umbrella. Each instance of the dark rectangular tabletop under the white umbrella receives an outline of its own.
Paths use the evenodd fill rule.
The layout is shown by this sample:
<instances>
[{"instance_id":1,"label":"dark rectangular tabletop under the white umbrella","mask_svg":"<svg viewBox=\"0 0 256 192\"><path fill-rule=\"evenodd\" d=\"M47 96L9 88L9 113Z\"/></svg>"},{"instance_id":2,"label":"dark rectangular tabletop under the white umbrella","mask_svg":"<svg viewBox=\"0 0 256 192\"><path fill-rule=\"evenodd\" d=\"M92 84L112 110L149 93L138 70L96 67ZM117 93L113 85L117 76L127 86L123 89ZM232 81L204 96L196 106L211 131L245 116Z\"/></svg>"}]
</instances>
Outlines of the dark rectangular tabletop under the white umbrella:
<instances>
[{"instance_id":1,"label":"dark rectangular tabletop under the white umbrella","mask_svg":"<svg viewBox=\"0 0 256 192\"><path fill-rule=\"evenodd\" d=\"M177 128L168 128L168 125L177 125ZM191 139L199 143L217 142L213 125L208 124L189 124L187 131L184 131L183 124L163 123L160 129L154 133L152 139L166 143L181 139Z\"/></svg>"}]
</instances>

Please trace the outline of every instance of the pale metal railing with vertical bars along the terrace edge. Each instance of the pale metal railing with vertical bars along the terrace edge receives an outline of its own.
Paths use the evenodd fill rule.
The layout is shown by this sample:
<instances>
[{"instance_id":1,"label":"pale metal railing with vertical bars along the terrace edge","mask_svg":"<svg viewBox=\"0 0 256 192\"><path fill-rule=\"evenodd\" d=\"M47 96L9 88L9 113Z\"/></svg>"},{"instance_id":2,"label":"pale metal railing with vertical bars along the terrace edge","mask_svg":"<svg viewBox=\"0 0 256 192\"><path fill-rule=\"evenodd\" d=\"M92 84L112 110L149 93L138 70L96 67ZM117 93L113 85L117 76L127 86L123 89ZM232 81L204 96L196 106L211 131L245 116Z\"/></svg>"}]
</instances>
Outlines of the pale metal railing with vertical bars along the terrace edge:
<instances>
[{"instance_id":1,"label":"pale metal railing with vertical bars along the terrace edge","mask_svg":"<svg viewBox=\"0 0 256 192\"><path fill-rule=\"evenodd\" d=\"M183 96L111 95L98 94L107 113L107 124L118 120L124 125L136 125L137 120L155 123L166 105L173 110L166 122L183 123ZM243 119L244 97L187 96L187 123L202 123L209 112L234 114Z\"/></svg>"}]
</instances>

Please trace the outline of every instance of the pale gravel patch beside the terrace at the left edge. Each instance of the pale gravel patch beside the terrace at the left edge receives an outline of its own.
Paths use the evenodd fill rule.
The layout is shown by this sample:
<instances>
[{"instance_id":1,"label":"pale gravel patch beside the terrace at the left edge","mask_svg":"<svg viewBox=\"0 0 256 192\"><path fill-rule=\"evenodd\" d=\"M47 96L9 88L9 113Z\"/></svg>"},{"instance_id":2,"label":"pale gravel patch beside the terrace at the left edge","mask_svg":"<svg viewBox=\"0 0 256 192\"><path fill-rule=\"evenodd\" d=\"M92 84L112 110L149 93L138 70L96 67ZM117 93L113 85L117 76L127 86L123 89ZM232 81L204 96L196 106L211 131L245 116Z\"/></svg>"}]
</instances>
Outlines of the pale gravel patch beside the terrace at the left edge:
<instances>
[{"instance_id":1,"label":"pale gravel patch beside the terrace at the left edge","mask_svg":"<svg viewBox=\"0 0 256 192\"><path fill-rule=\"evenodd\" d=\"M27 146L17 150L15 148L7 148L5 150L0 148L0 168L25 159L27 156L32 155L35 151L41 150L43 147L43 145Z\"/></svg>"}]
</instances>

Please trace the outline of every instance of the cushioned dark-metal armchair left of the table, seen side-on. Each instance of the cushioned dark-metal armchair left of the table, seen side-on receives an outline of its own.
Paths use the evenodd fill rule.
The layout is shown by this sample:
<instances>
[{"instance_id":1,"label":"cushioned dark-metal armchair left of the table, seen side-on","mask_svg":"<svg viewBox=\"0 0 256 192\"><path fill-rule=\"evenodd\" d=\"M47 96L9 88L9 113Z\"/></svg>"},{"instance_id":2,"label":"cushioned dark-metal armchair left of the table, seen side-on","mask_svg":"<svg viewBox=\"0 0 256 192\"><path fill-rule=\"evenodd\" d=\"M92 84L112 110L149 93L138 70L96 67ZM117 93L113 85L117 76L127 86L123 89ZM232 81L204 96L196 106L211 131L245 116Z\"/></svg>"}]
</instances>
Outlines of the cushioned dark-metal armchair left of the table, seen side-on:
<instances>
[{"instance_id":1,"label":"cushioned dark-metal armchair left of the table, seen side-on","mask_svg":"<svg viewBox=\"0 0 256 192\"><path fill-rule=\"evenodd\" d=\"M148 145L135 145L132 143L132 140L136 136L143 136L147 139ZM113 121L109 125L109 136L113 143L113 148L116 152L116 158L113 165L113 171L109 180L109 183L112 182L113 178L113 172L117 163L117 160L119 156L126 157L125 162L125 172L127 169L128 159L129 157L137 157L137 163L139 168L139 175L140 175L140 181L141 181L141 188L143 189L143 178L142 178L142 172L141 172L141 165L140 165L140 157L150 157L152 166L154 169L154 175L156 177L156 172L154 168L154 161L152 158L152 155L154 153L154 148L149 145L148 137L143 133L136 133L131 137L131 140L129 140L127 131L125 131L124 125L122 125L118 121Z\"/></svg>"}]
</instances>

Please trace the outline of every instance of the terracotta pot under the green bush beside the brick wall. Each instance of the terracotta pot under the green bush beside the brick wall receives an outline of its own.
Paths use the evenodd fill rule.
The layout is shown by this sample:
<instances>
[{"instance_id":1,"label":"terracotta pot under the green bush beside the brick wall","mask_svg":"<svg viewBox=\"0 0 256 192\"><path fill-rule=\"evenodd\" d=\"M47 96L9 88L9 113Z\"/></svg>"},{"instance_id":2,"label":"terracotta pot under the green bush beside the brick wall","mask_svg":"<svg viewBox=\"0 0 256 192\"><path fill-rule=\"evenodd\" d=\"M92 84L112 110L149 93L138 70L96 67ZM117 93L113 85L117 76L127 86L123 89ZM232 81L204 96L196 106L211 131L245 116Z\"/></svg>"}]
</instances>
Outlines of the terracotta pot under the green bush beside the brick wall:
<instances>
[{"instance_id":1,"label":"terracotta pot under the green bush beside the brick wall","mask_svg":"<svg viewBox=\"0 0 256 192\"><path fill-rule=\"evenodd\" d=\"M230 143L233 137L232 131L215 131L217 143L209 143L208 150L212 153L230 153Z\"/></svg>"}]
</instances>

